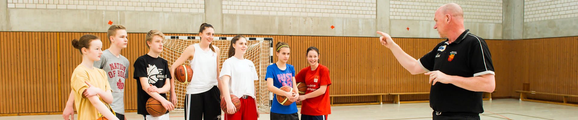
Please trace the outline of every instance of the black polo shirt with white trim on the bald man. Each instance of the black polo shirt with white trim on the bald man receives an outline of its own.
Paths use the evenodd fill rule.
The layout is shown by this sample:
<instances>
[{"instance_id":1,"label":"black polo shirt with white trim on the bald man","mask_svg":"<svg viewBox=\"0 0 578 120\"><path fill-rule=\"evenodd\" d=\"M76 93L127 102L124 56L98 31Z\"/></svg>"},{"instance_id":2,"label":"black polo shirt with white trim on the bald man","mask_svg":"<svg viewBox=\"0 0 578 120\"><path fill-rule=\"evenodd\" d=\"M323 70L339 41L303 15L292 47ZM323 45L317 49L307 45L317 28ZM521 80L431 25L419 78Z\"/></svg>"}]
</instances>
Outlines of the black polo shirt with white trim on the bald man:
<instances>
[{"instance_id":1,"label":"black polo shirt with white trim on the bald man","mask_svg":"<svg viewBox=\"0 0 578 120\"><path fill-rule=\"evenodd\" d=\"M495 74L486 41L464 31L453 43L438 43L432 51L418 59L425 71L439 70L450 76L475 77ZM436 83L429 93L429 106L434 111L453 114L480 114L483 92L468 91L453 84Z\"/></svg>"}]
</instances>

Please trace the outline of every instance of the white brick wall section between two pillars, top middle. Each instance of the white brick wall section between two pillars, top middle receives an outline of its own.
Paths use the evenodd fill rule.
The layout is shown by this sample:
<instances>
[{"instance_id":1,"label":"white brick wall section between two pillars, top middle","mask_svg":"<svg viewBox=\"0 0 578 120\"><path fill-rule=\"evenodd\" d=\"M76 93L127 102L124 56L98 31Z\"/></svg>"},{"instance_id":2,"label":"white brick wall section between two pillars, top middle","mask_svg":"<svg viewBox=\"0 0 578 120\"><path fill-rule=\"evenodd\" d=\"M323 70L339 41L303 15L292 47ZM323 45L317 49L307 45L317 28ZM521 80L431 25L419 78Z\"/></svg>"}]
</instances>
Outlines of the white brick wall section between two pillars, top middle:
<instances>
[{"instance_id":1,"label":"white brick wall section between two pillars, top middle","mask_svg":"<svg viewBox=\"0 0 578 120\"><path fill-rule=\"evenodd\" d=\"M376 0L223 0L223 13L376 18Z\"/></svg>"}]
</instances>

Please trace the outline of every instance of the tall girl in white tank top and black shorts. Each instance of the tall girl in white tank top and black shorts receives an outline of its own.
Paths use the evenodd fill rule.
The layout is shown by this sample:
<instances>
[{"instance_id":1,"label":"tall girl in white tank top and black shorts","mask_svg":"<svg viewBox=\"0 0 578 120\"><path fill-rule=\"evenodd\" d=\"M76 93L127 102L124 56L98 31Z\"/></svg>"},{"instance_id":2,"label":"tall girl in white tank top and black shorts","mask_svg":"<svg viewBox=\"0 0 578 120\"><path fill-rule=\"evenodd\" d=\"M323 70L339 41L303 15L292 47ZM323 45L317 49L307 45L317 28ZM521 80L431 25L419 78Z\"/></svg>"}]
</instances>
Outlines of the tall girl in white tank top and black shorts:
<instances>
[{"instance_id":1,"label":"tall girl in white tank top and black shorts","mask_svg":"<svg viewBox=\"0 0 578 120\"><path fill-rule=\"evenodd\" d=\"M214 29L203 23L199 28L201 42L185 48L181 56L171 66L171 74L177 66L189 61L192 69L192 80L187 84L187 95L184 100L185 119L220 119L221 118L221 80L218 76L218 52L220 49L211 44ZM171 79L171 102L176 104L175 80Z\"/></svg>"}]
</instances>

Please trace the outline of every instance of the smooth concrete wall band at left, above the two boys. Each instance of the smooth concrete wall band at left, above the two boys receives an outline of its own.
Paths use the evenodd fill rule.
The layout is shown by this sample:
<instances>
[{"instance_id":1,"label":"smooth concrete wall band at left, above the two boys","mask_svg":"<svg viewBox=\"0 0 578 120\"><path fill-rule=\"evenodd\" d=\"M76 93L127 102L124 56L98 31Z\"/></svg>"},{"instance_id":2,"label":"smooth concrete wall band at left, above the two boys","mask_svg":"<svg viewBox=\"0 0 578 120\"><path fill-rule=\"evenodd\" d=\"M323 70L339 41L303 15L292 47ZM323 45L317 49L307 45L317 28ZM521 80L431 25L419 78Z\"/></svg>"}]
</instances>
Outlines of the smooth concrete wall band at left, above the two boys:
<instances>
[{"instance_id":1,"label":"smooth concrete wall band at left, above the two boys","mask_svg":"<svg viewBox=\"0 0 578 120\"><path fill-rule=\"evenodd\" d=\"M105 32L121 24L128 32L197 33L203 13L136 12L113 10L8 9L8 31Z\"/></svg>"}]
</instances>

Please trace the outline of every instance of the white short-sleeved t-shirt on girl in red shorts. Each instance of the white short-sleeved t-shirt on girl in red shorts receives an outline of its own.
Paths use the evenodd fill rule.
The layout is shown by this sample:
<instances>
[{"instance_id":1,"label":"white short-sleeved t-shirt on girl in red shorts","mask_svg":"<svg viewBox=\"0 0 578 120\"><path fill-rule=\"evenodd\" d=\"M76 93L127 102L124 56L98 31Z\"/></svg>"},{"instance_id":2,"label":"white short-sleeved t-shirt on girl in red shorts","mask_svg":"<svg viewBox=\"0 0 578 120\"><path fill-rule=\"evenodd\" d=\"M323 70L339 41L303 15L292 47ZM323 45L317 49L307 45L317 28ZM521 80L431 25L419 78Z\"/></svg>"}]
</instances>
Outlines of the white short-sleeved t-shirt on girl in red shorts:
<instances>
[{"instance_id":1,"label":"white short-sleeved t-shirt on girl in red shorts","mask_svg":"<svg viewBox=\"0 0 578 120\"><path fill-rule=\"evenodd\" d=\"M255 98L254 81L259 80L259 77L253 61L231 57L223 62L219 77L223 78L225 75L231 76L231 80L229 80L229 93L231 95L238 98L243 95Z\"/></svg>"}]
</instances>

